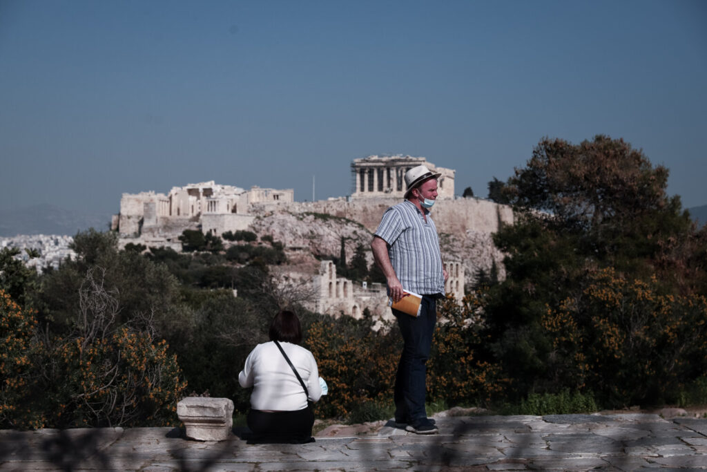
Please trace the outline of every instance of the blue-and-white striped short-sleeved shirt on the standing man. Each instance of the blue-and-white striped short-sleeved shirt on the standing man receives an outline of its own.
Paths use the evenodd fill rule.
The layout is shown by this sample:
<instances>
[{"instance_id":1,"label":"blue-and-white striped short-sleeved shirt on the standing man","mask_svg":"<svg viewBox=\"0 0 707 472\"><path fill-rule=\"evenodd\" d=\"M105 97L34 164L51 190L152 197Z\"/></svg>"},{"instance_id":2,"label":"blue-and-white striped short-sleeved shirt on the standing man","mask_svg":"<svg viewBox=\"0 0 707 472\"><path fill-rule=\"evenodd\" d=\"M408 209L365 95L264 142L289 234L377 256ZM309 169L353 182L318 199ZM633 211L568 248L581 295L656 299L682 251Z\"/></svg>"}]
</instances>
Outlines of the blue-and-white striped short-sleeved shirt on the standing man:
<instances>
[{"instance_id":1,"label":"blue-and-white striped short-sleeved shirt on the standing man","mask_svg":"<svg viewBox=\"0 0 707 472\"><path fill-rule=\"evenodd\" d=\"M388 243L388 257L402 288L417 294L444 294L437 229L414 203L405 200L385 210L375 236Z\"/></svg>"}]
</instances>

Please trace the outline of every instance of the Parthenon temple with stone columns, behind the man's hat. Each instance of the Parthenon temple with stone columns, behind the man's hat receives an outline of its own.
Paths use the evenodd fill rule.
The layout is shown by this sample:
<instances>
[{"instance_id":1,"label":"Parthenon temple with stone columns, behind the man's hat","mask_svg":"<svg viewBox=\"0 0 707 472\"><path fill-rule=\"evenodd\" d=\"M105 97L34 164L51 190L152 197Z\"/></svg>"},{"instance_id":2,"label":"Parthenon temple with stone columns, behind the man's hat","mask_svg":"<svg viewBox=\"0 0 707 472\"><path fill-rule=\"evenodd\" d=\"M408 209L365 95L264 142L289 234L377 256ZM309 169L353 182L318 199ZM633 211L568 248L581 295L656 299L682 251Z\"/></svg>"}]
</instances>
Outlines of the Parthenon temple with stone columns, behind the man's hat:
<instances>
[{"instance_id":1,"label":"Parthenon temple with stone columns, behind the man's hat","mask_svg":"<svg viewBox=\"0 0 707 472\"><path fill-rule=\"evenodd\" d=\"M354 159L351 172L354 174L355 185L351 198L396 197L402 198L405 193L405 173L424 164L432 172L441 173L438 179L438 198L454 198L453 169L437 167L423 157L403 156L368 156Z\"/></svg>"}]
</instances>

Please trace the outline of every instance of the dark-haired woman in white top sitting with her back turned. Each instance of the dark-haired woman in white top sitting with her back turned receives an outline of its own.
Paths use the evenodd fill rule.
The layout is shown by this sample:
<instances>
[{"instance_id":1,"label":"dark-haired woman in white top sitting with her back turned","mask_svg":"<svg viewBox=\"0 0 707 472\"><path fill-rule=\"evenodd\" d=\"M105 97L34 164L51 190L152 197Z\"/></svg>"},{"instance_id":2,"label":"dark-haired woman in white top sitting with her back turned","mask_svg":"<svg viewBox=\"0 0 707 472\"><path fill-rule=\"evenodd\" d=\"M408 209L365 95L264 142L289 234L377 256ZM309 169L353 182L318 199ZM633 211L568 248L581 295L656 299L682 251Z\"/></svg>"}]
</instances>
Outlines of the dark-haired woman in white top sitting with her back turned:
<instances>
[{"instance_id":1,"label":"dark-haired woman in white top sitting with her back turned","mask_svg":"<svg viewBox=\"0 0 707 472\"><path fill-rule=\"evenodd\" d=\"M256 440L311 442L314 412L309 402L322 396L317 362L299 345L302 328L295 313L277 313L269 335L270 342L255 346L238 375L240 386L253 387L248 427Z\"/></svg>"}]
</instances>

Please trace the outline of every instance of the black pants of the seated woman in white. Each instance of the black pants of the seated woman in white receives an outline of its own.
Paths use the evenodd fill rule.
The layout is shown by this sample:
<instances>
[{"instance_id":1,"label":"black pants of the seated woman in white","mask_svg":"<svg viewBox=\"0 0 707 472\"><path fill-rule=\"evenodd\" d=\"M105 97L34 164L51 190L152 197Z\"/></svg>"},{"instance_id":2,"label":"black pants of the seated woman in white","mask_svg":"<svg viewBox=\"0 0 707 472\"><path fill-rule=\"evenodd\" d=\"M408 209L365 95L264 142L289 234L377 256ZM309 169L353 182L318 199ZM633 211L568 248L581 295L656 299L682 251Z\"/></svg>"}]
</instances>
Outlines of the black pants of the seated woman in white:
<instances>
[{"instance_id":1,"label":"black pants of the seated woman in white","mask_svg":"<svg viewBox=\"0 0 707 472\"><path fill-rule=\"evenodd\" d=\"M250 410L247 423L255 441L311 442L314 412L312 408L274 413Z\"/></svg>"}]
</instances>

